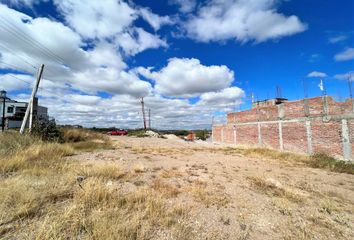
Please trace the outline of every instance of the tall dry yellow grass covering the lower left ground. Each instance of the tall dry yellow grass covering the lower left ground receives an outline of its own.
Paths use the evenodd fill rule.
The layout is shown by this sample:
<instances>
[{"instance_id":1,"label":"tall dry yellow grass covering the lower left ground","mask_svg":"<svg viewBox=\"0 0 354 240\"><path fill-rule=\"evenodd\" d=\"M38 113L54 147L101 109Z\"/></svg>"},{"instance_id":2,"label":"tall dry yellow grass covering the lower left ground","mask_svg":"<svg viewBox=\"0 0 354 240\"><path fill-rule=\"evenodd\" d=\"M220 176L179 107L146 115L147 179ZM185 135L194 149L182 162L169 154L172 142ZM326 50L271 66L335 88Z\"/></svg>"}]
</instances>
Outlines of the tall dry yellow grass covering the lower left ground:
<instances>
[{"instance_id":1,"label":"tall dry yellow grass covering the lower left ground","mask_svg":"<svg viewBox=\"0 0 354 240\"><path fill-rule=\"evenodd\" d=\"M0 239L153 239L164 230L193 238L183 223L187 209L166 203L177 189L155 182L123 192L113 184L125 177L117 164L69 157L110 146L106 136L65 129L63 139L0 135Z\"/></svg>"}]
</instances>

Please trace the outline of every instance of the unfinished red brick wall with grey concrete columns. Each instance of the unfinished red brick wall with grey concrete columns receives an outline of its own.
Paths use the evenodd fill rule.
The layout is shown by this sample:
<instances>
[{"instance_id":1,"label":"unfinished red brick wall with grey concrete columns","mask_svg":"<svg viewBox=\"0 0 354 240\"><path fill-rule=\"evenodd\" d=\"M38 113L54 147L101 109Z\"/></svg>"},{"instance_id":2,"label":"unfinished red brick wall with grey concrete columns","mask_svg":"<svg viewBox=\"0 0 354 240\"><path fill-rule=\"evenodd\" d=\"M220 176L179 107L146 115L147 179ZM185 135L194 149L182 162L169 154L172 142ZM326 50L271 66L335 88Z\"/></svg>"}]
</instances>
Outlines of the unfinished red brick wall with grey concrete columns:
<instances>
[{"instance_id":1,"label":"unfinished red brick wall with grey concrete columns","mask_svg":"<svg viewBox=\"0 0 354 240\"><path fill-rule=\"evenodd\" d=\"M353 100L317 97L230 113L213 141L354 160Z\"/></svg>"}]
</instances>

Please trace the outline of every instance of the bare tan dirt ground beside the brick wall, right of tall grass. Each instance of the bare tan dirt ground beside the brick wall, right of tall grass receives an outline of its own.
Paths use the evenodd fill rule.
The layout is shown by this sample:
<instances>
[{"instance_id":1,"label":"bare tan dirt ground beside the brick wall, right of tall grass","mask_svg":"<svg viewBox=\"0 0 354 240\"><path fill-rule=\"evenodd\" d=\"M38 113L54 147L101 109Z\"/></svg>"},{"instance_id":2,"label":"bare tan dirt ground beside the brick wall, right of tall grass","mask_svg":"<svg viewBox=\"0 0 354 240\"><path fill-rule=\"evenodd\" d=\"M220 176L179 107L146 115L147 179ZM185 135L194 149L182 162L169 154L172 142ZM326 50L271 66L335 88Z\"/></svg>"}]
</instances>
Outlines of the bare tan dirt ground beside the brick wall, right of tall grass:
<instances>
[{"instance_id":1,"label":"bare tan dirt ground beside the brick wall, right of tall grass","mask_svg":"<svg viewBox=\"0 0 354 240\"><path fill-rule=\"evenodd\" d=\"M186 206L192 239L354 239L354 175L269 158L211 143L112 137L114 150L82 153L90 164L117 163L127 192L151 187ZM189 233L188 233L189 232ZM190 235L189 235L190 234ZM168 232L155 239L171 239Z\"/></svg>"}]
</instances>

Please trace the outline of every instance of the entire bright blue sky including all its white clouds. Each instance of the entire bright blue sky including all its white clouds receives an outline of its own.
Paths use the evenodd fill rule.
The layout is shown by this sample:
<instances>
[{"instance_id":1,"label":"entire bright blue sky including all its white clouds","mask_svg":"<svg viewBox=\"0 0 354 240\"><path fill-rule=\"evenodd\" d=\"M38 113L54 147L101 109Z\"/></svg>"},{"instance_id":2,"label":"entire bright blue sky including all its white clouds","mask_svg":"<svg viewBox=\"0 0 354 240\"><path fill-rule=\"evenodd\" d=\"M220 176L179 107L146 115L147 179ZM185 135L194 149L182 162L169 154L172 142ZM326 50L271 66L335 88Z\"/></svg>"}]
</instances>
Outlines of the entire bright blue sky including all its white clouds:
<instances>
[{"instance_id":1,"label":"entire bright blue sky including all its white clouds","mask_svg":"<svg viewBox=\"0 0 354 240\"><path fill-rule=\"evenodd\" d=\"M349 96L352 0L95 2L1 1L0 88L26 100L26 62L44 63L39 96L58 122L138 127L144 96L160 128L208 127L276 86L294 100L303 82L321 95L323 79L328 94Z\"/></svg>"}]
</instances>

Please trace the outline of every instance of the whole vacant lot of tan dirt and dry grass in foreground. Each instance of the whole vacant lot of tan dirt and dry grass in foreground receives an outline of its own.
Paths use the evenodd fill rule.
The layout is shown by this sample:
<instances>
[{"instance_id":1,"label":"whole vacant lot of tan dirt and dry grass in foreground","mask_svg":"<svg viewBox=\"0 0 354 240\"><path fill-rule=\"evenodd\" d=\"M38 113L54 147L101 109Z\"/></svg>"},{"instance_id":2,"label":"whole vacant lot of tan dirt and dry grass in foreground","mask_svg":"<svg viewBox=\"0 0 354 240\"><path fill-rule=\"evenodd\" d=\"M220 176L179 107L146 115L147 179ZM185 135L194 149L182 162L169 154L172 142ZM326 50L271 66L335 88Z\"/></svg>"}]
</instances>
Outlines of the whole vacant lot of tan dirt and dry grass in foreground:
<instances>
[{"instance_id":1,"label":"whole vacant lot of tan dirt and dry grass in foreground","mask_svg":"<svg viewBox=\"0 0 354 240\"><path fill-rule=\"evenodd\" d=\"M210 143L110 144L65 149L74 152L48 172L3 171L0 237L354 239L354 175L308 167L304 156Z\"/></svg>"}]
</instances>

